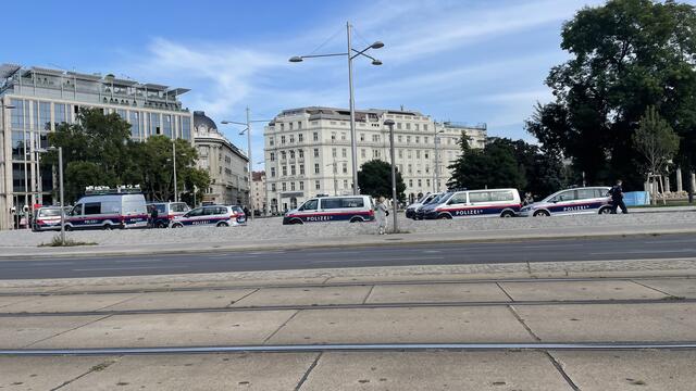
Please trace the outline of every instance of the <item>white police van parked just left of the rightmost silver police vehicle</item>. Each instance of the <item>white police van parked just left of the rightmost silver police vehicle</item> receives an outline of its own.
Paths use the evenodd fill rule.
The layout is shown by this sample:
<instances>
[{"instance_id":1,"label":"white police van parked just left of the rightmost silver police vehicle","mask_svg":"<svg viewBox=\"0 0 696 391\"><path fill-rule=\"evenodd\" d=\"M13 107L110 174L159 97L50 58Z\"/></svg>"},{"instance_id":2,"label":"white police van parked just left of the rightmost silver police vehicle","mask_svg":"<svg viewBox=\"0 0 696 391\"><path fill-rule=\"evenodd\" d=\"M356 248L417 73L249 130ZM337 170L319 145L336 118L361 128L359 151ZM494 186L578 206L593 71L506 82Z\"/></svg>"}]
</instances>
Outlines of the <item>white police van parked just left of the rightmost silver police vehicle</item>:
<instances>
[{"instance_id":1,"label":"white police van parked just left of the rightmost silver police vehicle","mask_svg":"<svg viewBox=\"0 0 696 391\"><path fill-rule=\"evenodd\" d=\"M484 189L450 191L422 212L426 219L514 217L521 207L517 189Z\"/></svg>"}]
</instances>

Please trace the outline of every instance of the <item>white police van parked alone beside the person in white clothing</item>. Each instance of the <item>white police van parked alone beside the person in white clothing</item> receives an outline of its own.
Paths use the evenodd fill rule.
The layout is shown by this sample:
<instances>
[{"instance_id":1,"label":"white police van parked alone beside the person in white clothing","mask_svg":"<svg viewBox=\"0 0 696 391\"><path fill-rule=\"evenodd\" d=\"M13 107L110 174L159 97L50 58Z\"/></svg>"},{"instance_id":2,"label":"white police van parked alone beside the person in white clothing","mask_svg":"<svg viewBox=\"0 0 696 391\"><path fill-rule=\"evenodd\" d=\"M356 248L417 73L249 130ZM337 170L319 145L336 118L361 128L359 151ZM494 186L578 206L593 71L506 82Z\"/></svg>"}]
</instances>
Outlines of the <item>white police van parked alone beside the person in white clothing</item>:
<instances>
[{"instance_id":1,"label":"white police van parked alone beside the person in white clothing","mask_svg":"<svg viewBox=\"0 0 696 391\"><path fill-rule=\"evenodd\" d=\"M374 205L370 195L316 197L304 201L283 217L283 224L320 222L373 222Z\"/></svg>"}]
</instances>

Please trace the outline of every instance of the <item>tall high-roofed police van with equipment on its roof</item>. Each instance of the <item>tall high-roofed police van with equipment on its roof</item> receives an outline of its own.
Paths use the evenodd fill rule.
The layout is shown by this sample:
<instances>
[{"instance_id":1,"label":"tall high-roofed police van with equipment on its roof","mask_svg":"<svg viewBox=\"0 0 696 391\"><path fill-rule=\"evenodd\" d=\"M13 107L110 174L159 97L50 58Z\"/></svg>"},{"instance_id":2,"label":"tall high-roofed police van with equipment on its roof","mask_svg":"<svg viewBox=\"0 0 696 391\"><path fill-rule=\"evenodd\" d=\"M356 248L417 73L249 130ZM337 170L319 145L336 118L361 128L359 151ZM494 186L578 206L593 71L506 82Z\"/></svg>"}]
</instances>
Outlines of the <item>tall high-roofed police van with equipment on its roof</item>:
<instances>
[{"instance_id":1,"label":"tall high-roofed police van with equipment on its roof","mask_svg":"<svg viewBox=\"0 0 696 391\"><path fill-rule=\"evenodd\" d=\"M65 218L65 230L147 228L148 211L139 189L88 190Z\"/></svg>"}]
</instances>

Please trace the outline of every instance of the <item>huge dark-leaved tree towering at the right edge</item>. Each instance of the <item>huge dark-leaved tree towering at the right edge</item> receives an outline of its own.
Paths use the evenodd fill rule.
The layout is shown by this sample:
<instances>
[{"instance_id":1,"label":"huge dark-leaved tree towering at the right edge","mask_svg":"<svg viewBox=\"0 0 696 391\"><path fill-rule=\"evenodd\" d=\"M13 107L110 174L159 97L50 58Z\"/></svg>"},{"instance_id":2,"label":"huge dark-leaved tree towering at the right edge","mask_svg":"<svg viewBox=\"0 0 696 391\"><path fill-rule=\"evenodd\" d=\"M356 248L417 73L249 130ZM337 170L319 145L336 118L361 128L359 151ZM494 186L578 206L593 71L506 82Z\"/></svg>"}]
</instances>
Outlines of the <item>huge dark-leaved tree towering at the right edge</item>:
<instances>
[{"instance_id":1,"label":"huge dark-leaved tree towering at the right edge","mask_svg":"<svg viewBox=\"0 0 696 391\"><path fill-rule=\"evenodd\" d=\"M526 129L547 151L570 157L591 184L622 177L637 187L641 157L630 142L649 105L684 142L680 160L696 155L696 9L668 0L609 0L563 25L571 59L551 68L555 101L537 104Z\"/></svg>"}]
</instances>

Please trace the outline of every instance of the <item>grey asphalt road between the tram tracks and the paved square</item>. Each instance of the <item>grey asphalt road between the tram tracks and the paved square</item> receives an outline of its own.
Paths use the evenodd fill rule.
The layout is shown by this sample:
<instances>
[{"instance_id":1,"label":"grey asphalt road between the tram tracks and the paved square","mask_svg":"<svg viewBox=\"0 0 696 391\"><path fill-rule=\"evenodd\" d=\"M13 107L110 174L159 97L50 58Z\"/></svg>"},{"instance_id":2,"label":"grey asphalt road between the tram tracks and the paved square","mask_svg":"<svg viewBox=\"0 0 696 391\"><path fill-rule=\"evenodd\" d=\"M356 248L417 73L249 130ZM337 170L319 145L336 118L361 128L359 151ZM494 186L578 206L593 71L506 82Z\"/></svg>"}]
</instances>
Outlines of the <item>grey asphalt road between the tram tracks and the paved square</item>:
<instances>
[{"instance_id":1,"label":"grey asphalt road between the tram tracks and the paved square","mask_svg":"<svg viewBox=\"0 0 696 391\"><path fill-rule=\"evenodd\" d=\"M307 268L696 257L696 236L211 252L0 261L0 279L141 276Z\"/></svg>"}]
</instances>

